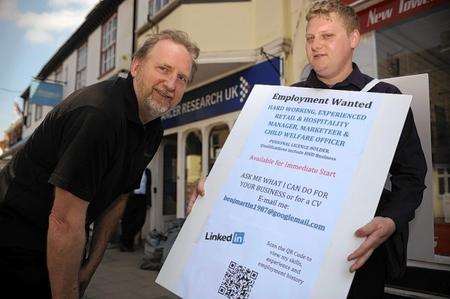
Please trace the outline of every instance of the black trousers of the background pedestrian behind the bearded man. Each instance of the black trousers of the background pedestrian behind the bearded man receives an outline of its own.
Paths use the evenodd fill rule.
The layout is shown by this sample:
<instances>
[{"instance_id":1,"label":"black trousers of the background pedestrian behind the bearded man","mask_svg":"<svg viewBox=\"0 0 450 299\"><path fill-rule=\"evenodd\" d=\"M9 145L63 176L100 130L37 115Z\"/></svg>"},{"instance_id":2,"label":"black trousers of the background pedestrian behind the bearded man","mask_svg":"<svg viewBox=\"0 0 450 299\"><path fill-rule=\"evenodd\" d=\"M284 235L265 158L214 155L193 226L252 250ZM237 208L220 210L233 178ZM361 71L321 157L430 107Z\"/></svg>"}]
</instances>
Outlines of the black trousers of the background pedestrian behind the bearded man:
<instances>
[{"instance_id":1,"label":"black trousers of the background pedestrian behind the bearded man","mask_svg":"<svg viewBox=\"0 0 450 299\"><path fill-rule=\"evenodd\" d=\"M142 229L147 214L145 195L132 194L127 201L122 217L121 243L129 248L133 248L134 236Z\"/></svg>"}]
</instances>

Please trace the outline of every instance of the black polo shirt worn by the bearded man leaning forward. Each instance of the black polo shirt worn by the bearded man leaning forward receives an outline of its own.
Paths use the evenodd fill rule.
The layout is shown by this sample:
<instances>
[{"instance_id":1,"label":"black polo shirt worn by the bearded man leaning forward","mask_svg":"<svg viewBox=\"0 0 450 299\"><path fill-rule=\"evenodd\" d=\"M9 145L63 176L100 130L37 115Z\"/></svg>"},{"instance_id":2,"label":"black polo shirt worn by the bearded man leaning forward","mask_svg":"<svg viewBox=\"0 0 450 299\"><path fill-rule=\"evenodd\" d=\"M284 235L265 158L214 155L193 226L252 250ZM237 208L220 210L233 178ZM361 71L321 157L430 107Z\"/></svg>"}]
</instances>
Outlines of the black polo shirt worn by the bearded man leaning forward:
<instances>
[{"instance_id":1,"label":"black polo shirt worn by the bearded man leaning forward","mask_svg":"<svg viewBox=\"0 0 450 299\"><path fill-rule=\"evenodd\" d=\"M162 138L139 119L131 75L74 92L0 173L0 246L45 250L54 186L88 201L87 223L139 187Z\"/></svg>"}]
</instances>

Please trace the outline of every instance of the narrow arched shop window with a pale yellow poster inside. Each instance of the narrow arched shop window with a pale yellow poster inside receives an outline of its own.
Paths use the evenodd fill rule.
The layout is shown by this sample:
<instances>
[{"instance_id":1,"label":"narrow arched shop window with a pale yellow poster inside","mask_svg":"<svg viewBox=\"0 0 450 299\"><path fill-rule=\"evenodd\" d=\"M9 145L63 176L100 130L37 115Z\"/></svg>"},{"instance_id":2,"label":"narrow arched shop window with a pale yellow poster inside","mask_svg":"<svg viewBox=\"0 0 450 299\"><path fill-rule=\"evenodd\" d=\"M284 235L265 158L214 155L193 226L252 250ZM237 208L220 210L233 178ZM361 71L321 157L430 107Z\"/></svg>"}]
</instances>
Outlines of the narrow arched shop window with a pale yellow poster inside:
<instances>
[{"instance_id":1,"label":"narrow arched shop window with a pale yellow poster inside","mask_svg":"<svg viewBox=\"0 0 450 299\"><path fill-rule=\"evenodd\" d=\"M202 175L202 133L200 131L188 134L185 161L185 202L187 204L189 195L197 187L197 182Z\"/></svg>"}]
</instances>

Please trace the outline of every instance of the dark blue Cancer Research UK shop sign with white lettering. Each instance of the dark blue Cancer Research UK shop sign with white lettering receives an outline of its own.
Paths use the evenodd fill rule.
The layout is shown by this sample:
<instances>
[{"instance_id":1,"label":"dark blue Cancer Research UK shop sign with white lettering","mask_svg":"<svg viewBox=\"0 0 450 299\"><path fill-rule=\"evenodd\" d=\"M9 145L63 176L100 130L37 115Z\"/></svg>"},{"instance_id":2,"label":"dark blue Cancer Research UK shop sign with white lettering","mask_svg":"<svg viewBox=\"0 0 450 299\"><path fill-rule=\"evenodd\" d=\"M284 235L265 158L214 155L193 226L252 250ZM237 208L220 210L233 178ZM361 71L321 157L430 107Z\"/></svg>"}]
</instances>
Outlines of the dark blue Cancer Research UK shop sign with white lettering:
<instances>
[{"instance_id":1,"label":"dark blue Cancer Research UK shop sign with white lettering","mask_svg":"<svg viewBox=\"0 0 450 299\"><path fill-rule=\"evenodd\" d=\"M180 104L162 117L164 128L241 110L255 84L280 85L280 63L281 59L273 58L187 92Z\"/></svg>"}]
</instances>

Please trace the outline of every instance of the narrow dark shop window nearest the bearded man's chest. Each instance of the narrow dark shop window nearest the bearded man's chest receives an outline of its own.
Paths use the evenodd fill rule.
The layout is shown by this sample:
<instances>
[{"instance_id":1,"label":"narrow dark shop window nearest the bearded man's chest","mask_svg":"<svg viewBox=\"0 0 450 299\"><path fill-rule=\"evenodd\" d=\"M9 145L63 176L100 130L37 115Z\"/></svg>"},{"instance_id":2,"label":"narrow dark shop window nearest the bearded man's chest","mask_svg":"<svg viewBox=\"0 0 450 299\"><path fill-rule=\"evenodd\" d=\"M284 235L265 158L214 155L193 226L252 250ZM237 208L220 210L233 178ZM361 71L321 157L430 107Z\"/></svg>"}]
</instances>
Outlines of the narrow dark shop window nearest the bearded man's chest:
<instances>
[{"instance_id":1,"label":"narrow dark shop window nearest the bearded man's chest","mask_svg":"<svg viewBox=\"0 0 450 299\"><path fill-rule=\"evenodd\" d=\"M165 136L163 150L163 215L177 213L177 134Z\"/></svg>"}]
</instances>

